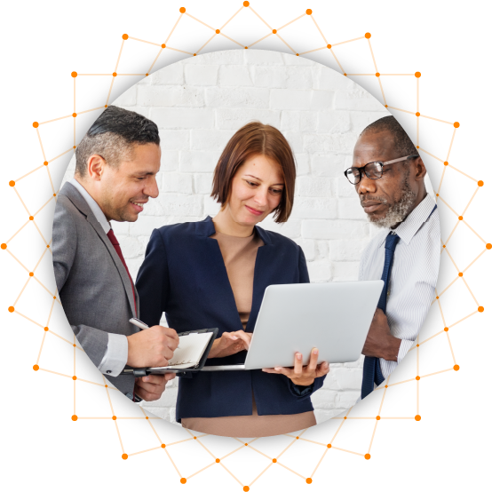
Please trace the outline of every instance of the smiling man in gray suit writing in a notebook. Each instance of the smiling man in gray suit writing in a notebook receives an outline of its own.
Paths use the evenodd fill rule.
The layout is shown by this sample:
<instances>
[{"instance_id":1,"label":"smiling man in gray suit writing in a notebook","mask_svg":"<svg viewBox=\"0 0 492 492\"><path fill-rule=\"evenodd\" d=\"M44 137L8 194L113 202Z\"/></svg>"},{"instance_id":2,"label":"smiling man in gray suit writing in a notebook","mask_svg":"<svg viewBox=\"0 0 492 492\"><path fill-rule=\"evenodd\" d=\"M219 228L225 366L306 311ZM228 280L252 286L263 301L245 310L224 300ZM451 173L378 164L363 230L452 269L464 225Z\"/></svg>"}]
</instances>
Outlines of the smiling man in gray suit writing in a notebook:
<instances>
[{"instance_id":1,"label":"smiling man in gray suit writing in a notebook","mask_svg":"<svg viewBox=\"0 0 492 492\"><path fill-rule=\"evenodd\" d=\"M158 400L174 375L120 376L132 367L166 366L174 329L140 331L139 295L110 220L134 222L159 191L159 132L146 117L107 107L75 151L75 178L61 189L53 218L58 295L83 350L109 383L132 400ZM138 398L137 398L138 397Z\"/></svg>"}]
</instances>

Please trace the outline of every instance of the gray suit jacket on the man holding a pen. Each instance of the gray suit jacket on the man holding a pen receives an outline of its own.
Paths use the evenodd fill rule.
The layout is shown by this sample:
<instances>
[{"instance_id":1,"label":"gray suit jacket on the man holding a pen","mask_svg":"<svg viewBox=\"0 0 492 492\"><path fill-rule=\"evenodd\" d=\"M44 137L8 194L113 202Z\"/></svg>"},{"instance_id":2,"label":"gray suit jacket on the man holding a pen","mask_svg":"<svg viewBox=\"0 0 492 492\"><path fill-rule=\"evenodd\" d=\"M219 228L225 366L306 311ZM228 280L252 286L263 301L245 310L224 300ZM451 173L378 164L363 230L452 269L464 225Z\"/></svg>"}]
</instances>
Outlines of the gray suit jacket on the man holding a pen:
<instances>
[{"instance_id":1,"label":"gray suit jacket on the man holding a pen","mask_svg":"<svg viewBox=\"0 0 492 492\"><path fill-rule=\"evenodd\" d=\"M128 336L139 331L128 322L138 313L122 260L83 196L70 183L58 195L52 253L55 282L67 320L84 352L98 367L106 353L107 334ZM136 290L135 296L139 306ZM134 377L104 376L123 394L133 393Z\"/></svg>"}]
</instances>

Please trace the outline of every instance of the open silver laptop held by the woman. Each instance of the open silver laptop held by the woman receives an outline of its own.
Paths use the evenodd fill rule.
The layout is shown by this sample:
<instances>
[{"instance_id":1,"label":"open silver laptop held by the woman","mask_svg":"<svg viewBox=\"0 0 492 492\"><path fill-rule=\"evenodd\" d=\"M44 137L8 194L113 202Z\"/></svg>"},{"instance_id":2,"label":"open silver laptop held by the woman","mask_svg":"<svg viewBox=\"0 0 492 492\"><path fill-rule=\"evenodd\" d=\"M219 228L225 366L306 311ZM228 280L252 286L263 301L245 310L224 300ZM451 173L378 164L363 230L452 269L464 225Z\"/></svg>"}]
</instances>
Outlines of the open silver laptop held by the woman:
<instances>
[{"instance_id":1,"label":"open silver laptop held by the woman","mask_svg":"<svg viewBox=\"0 0 492 492\"><path fill-rule=\"evenodd\" d=\"M306 365L314 347L318 363L352 362L361 356L385 282L270 285L258 313L244 364L202 370L292 367L296 352Z\"/></svg>"}]
</instances>

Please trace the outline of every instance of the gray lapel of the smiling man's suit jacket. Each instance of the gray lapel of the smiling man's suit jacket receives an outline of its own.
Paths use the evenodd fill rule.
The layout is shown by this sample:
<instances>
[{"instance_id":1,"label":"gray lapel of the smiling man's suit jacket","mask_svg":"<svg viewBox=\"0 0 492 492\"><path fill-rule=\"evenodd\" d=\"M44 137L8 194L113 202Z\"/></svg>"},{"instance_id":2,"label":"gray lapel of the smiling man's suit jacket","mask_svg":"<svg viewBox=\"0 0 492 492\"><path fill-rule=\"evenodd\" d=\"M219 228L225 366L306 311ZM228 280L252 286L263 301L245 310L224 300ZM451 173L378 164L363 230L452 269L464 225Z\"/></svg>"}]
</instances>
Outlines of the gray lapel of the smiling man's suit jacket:
<instances>
[{"instance_id":1,"label":"gray lapel of the smiling man's suit jacket","mask_svg":"<svg viewBox=\"0 0 492 492\"><path fill-rule=\"evenodd\" d=\"M85 200L83 199L82 194L80 194L76 190L75 186L70 185L70 183L66 183L61 188L60 193L67 195L70 201L74 203L75 207L78 210L80 210L81 213L83 213L83 215L87 219L87 222L91 224L96 234L99 235L100 241L102 241L106 246L109 255L111 256L113 262L115 263L115 267L116 270L118 271L120 279L123 282L124 291L126 292L126 297L128 298L128 302L130 303L131 313L133 313L133 315L137 317L138 314L135 312L135 303L133 302L133 289L134 289L133 281L131 280L129 274L126 272L126 268L123 266L123 262L118 256L118 253L116 253L115 247L113 246L113 244L111 244L109 238L107 237L107 234L104 232L102 226L99 224L99 220L95 218L91 208L89 207L87 202L85 202ZM139 301L137 298L137 290L135 290L135 302L137 303L138 306Z\"/></svg>"}]
</instances>

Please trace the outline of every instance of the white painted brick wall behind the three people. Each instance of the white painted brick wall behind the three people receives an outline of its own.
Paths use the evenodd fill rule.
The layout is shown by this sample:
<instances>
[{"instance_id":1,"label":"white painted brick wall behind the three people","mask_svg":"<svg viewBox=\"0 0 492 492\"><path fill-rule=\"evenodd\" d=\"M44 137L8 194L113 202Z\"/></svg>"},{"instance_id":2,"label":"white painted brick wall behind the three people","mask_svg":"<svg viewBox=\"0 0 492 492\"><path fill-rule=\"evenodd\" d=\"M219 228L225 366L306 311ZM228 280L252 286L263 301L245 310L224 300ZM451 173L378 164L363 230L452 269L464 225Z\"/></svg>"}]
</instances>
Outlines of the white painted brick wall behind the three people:
<instances>
[{"instance_id":1,"label":"white painted brick wall behind the three people","mask_svg":"<svg viewBox=\"0 0 492 492\"><path fill-rule=\"evenodd\" d=\"M298 242L313 282L357 278L361 250L374 234L343 171L361 130L388 115L351 80L309 60L257 50L215 52L164 67L115 101L159 126L163 159L159 197L139 220L114 224L135 277L155 227L199 220L218 211L211 172L226 141L251 120L279 128L296 155L296 202L288 223L261 226ZM71 163L67 177L73 176ZM361 361L333 364L313 395L318 422L360 395ZM175 422L175 381L149 411Z\"/></svg>"}]
</instances>

